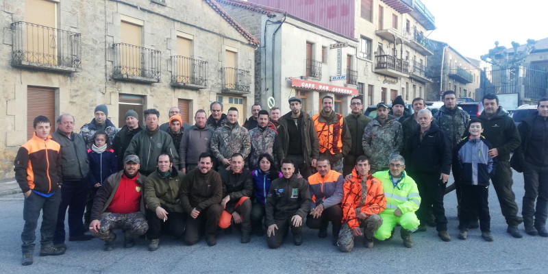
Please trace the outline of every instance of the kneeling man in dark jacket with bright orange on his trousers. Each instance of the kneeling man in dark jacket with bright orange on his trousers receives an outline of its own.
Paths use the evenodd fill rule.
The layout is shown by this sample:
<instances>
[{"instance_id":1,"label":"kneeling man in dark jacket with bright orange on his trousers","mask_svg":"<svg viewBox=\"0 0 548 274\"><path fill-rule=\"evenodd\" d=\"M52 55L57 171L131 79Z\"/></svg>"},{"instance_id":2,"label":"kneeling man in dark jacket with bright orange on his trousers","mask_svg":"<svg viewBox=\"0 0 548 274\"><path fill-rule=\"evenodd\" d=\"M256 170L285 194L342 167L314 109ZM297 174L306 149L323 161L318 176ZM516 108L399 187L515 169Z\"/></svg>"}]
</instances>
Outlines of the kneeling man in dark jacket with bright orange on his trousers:
<instances>
[{"instance_id":1,"label":"kneeling man in dark jacket with bright orange on his trousers","mask_svg":"<svg viewBox=\"0 0 548 274\"><path fill-rule=\"evenodd\" d=\"M247 243L251 238L251 199L249 197L253 194L253 178L249 170L244 169L244 164L242 155L234 153L230 158L230 169L219 171L223 180L224 197L221 206L225 209L219 226L232 229L231 220L234 220L234 223L241 225L241 242Z\"/></svg>"}]
</instances>

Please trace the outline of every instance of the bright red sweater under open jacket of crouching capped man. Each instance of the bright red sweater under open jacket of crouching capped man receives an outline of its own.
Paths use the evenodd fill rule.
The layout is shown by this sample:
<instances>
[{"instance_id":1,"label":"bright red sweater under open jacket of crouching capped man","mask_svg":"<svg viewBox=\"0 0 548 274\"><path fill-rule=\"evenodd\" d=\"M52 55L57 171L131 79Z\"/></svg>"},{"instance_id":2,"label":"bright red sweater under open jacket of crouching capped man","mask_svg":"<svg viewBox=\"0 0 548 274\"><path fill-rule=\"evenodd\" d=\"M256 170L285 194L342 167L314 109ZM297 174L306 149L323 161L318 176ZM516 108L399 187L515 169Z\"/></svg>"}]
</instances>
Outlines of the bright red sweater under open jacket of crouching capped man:
<instances>
[{"instance_id":1,"label":"bright red sweater under open jacket of crouching capped man","mask_svg":"<svg viewBox=\"0 0 548 274\"><path fill-rule=\"evenodd\" d=\"M132 179L122 175L107 212L127 214L139 211L142 191L141 185L136 182L137 177L139 174Z\"/></svg>"}]
</instances>

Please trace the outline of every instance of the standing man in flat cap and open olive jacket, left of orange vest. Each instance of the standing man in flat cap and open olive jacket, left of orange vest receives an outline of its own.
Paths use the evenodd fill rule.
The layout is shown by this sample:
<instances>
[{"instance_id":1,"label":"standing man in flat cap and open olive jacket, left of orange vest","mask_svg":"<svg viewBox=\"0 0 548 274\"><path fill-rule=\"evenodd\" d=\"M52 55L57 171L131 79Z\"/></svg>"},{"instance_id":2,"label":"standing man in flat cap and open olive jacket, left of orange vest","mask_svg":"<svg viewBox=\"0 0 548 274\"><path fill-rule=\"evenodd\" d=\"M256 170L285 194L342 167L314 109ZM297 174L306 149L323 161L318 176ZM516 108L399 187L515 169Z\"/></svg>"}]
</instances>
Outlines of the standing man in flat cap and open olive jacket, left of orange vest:
<instances>
[{"instance_id":1,"label":"standing man in flat cap and open olive jacket, left of orange vest","mask_svg":"<svg viewBox=\"0 0 548 274\"><path fill-rule=\"evenodd\" d=\"M295 164L295 171L308 179L319 155L318 135L310 115L301 111L301 98L291 97L289 107L291 111L278 120L277 157L279 162L290 159Z\"/></svg>"}]
</instances>

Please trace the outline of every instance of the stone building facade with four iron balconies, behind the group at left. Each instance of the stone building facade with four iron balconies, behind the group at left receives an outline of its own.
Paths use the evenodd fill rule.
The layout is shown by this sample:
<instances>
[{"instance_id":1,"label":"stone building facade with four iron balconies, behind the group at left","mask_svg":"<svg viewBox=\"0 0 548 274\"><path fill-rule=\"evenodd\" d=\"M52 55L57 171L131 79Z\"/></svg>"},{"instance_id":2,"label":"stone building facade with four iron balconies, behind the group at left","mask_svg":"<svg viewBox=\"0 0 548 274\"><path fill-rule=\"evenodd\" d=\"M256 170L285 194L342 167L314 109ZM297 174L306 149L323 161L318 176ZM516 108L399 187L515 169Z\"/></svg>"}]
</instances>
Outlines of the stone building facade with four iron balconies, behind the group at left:
<instances>
[{"instance_id":1,"label":"stone building facade with four iron balconies, behind the group at left","mask_svg":"<svg viewBox=\"0 0 548 274\"><path fill-rule=\"evenodd\" d=\"M178 105L185 122L221 100L245 119L254 97L258 40L212 0L21 0L0 6L0 179L32 120L75 116L75 132L96 105L123 126L134 109L156 108L160 121ZM52 125L54 127L54 125Z\"/></svg>"}]
</instances>

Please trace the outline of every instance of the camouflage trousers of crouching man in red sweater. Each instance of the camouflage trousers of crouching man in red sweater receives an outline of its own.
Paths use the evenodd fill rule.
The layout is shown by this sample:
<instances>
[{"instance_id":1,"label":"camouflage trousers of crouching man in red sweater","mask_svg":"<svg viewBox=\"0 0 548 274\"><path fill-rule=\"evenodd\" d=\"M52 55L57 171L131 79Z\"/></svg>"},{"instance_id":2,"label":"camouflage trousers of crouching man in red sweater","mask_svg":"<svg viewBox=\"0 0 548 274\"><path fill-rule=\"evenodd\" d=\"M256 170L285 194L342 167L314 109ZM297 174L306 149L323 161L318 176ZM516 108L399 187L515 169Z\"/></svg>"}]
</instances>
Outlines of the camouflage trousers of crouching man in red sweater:
<instances>
[{"instance_id":1,"label":"camouflage trousers of crouching man in red sweater","mask_svg":"<svg viewBox=\"0 0 548 274\"><path fill-rule=\"evenodd\" d=\"M149 224L141 212L127 214L105 212L101 214L101 228L99 232L92 233L93 236L112 242L116 239L116 234L112 229L122 229L126 239L133 239L147 233Z\"/></svg>"}]
</instances>

